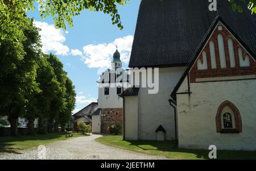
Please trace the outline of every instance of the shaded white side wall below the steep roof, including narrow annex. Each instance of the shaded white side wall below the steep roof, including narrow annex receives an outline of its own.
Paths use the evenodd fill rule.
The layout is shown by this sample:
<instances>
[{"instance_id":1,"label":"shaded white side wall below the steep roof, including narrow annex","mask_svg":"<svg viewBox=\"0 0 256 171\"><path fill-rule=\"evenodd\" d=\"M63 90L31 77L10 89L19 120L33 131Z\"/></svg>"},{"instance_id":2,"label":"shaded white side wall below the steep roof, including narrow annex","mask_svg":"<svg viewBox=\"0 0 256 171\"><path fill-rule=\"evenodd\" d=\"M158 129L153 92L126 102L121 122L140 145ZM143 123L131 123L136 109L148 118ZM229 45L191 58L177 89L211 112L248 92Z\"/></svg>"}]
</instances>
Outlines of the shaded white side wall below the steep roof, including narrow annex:
<instances>
[{"instance_id":1,"label":"shaded white side wall below the steep roof, including narrow annex","mask_svg":"<svg viewBox=\"0 0 256 171\"><path fill-rule=\"evenodd\" d=\"M138 103L134 98L125 97L125 105L129 106L129 109L125 106L125 135L129 135L125 139L156 140L155 131L160 125L166 130L166 140L175 139L174 108L168 100L184 70L185 67L159 68L158 93L148 94L148 88L140 88ZM138 116L129 111L131 109L138 109ZM138 128L132 123L134 118L138 118ZM138 134L132 133L136 129Z\"/></svg>"}]
</instances>

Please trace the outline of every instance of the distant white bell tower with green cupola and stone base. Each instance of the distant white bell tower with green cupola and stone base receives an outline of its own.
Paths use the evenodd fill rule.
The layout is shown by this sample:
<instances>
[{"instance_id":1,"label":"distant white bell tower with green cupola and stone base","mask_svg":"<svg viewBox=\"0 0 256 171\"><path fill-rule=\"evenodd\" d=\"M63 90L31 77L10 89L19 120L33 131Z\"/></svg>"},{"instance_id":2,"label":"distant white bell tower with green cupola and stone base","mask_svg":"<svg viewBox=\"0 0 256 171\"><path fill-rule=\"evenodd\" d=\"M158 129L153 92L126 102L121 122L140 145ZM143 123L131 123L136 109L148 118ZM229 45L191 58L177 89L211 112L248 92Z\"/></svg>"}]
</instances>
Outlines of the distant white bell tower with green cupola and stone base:
<instances>
[{"instance_id":1,"label":"distant white bell tower with green cupola and stone base","mask_svg":"<svg viewBox=\"0 0 256 171\"><path fill-rule=\"evenodd\" d=\"M118 50L113 55L111 66L97 81L98 110L92 114L93 133L110 133L109 124L123 123L123 99L118 95L123 91L122 83L126 82L122 80L122 74L127 73L127 70L122 69Z\"/></svg>"}]
</instances>

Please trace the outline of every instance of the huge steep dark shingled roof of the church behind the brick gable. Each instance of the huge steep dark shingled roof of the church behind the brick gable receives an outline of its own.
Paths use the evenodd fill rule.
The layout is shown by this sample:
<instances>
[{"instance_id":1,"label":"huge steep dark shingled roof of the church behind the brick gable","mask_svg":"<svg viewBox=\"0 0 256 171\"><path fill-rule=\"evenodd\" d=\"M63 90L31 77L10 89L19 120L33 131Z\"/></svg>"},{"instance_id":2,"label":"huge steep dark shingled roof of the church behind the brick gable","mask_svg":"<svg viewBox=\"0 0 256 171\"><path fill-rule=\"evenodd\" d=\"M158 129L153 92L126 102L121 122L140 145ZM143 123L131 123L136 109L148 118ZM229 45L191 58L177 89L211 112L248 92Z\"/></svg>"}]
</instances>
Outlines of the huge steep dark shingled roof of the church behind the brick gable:
<instances>
[{"instance_id":1,"label":"huge steep dark shingled roof of the church behind the brick gable","mask_svg":"<svg viewBox=\"0 0 256 171\"><path fill-rule=\"evenodd\" d=\"M256 54L256 15L218 1L220 16ZM129 67L188 65L217 16L207 0L142 0ZM246 7L245 7L246 8Z\"/></svg>"}]
</instances>

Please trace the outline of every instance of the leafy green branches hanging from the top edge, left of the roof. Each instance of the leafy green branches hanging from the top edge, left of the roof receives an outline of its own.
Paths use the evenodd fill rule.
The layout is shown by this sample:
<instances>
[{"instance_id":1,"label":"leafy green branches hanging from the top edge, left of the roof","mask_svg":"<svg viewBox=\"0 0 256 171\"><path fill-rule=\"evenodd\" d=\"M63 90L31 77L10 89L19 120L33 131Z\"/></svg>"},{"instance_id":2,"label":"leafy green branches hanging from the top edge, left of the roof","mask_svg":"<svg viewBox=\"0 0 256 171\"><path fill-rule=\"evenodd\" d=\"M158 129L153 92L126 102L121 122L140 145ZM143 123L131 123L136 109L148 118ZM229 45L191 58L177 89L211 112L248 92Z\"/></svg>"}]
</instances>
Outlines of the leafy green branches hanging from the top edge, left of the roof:
<instances>
[{"instance_id":1,"label":"leafy green branches hanging from the top edge, left of the roof","mask_svg":"<svg viewBox=\"0 0 256 171\"><path fill-rule=\"evenodd\" d=\"M122 30L120 15L117 5L125 5L129 0L59 0L59 1L39 1L40 14L42 18L52 16L57 28L66 28L65 23L73 26L73 17L80 15L82 10L102 11L109 14L112 23Z\"/></svg>"}]
</instances>

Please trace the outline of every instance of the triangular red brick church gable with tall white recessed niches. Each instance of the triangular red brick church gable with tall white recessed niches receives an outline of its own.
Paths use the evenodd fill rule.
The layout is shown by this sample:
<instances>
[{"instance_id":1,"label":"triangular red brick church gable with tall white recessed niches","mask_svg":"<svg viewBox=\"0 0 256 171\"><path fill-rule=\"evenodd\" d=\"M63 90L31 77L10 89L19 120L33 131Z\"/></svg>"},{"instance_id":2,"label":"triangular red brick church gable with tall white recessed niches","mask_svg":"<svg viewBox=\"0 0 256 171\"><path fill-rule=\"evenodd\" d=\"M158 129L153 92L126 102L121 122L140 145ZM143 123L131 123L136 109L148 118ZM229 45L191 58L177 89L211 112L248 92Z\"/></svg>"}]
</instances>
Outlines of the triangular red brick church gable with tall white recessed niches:
<instances>
[{"instance_id":1,"label":"triangular red brick church gable with tall white recessed niches","mask_svg":"<svg viewBox=\"0 0 256 171\"><path fill-rule=\"evenodd\" d=\"M256 61L218 22L189 71L190 82L256 79Z\"/></svg>"}]
</instances>

